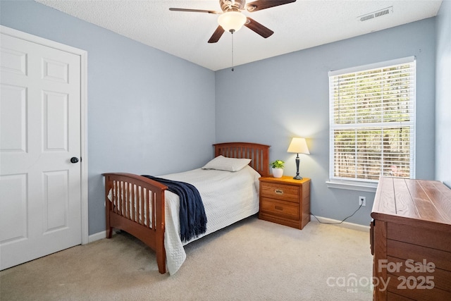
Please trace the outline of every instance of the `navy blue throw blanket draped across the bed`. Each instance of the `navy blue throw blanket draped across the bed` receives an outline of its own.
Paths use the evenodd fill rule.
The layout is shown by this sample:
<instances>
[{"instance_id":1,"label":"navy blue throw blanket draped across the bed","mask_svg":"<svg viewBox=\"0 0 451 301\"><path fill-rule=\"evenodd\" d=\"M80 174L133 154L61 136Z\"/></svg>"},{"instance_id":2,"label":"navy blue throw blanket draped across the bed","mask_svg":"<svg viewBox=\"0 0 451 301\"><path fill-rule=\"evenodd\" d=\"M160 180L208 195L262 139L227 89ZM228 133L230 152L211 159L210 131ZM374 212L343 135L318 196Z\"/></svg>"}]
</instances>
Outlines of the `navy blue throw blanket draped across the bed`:
<instances>
[{"instance_id":1,"label":"navy blue throw blanket draped across the bed","mask_svg":"<svg viewBox=\"0 0 451 301\"><path fill-rule=\"evenodd\" d=\"M180 197L180 239L188 241L206 231L206 214L199 191L190 183L142 175L168 186Z\"/></svg>"}]
</instances>

